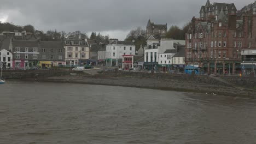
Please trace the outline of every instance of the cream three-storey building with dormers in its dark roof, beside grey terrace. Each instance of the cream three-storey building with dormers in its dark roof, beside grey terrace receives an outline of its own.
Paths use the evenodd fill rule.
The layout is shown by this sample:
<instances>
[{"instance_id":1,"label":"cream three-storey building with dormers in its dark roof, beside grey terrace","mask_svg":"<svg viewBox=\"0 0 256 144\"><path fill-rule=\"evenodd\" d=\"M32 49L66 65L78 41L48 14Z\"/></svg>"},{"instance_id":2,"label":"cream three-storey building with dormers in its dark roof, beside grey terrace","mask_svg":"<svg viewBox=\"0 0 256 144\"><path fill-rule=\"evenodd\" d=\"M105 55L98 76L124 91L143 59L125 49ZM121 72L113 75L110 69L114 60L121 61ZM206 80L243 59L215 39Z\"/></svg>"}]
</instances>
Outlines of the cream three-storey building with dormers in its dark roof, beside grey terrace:
<instances>
[{"instance_id":1,"label":"cream three-storey building with dormers in its dark roof, beside grey terrace","mask_svg":"<svg viewBox=\"0 0 256 144\"><path fill-rule=\"evenodd\" d=\"M88 63L89 54L87 40L65 40L66 65L85 65Z\"/></svg>"}]
</instances>

